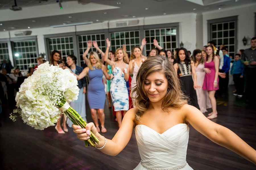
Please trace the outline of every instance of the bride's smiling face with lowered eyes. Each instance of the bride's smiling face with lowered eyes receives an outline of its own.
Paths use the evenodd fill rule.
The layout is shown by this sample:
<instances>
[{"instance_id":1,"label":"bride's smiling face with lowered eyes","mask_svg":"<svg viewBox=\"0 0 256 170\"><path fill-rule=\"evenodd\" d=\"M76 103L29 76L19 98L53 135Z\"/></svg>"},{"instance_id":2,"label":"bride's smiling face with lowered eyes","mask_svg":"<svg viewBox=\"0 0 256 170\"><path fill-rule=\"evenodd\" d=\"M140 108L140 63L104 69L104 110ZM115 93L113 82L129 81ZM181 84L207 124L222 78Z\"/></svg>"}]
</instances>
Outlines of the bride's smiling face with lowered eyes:
<instances>
[{"instance_id":1,"label":"bride's smiling face with lowered eyes","mask_svg":"<svg viewBox=\"0 0 256 170\"><path fill-rule=\"evenodd\" d=\"M161 71L150 73L144 82L146 95L151 102L162 100L168 88L168 81Z\"/></svg>"}]
</instances>

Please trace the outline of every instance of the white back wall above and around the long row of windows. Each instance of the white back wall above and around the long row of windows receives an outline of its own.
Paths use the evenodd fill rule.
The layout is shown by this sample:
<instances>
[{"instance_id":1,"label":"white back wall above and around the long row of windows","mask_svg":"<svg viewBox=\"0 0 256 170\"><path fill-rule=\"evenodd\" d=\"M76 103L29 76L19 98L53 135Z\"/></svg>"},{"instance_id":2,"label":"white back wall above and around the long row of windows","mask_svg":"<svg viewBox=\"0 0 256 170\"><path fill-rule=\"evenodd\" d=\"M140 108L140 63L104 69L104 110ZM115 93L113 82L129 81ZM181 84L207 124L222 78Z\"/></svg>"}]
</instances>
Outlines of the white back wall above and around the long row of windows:
<instances>
[{"instance_id":1,"label":"white back wall above and around the long row of windows","mask_svg":"<svg viewBox=\"0 0 256 170\"><path fill-rule=\"evenodd\" d=\"M138 24L131 25L131 26L179 22L178 44L180 44L180 42L182 41L184 44L184 47L187 48L188 50L194 50L196 48L196 34L195 34L196 14L195 13L137 18L137 20L138 20ZM79 25L77 26L76 29L77 31L89 31L89 30L97 30L97 29L116 28L114 24L115 21L117 20L105 21L103 23L90 24L90 25ZM118 20L118 21L122 21L122 20ZM17 37L15 36L14 32L26 31L26 30L10 31L10 36L11 38ZM43 27L43 28L34 28L29 30L32 31L32 34L30 36L37 36L38 52L43 53L43 52L46 52L45 45L44 45L44 35L75 32L75 26L61 27L61 28ZM7 31L0 32L0 38L9 38L9 33Z\"/></svg>"}]
</instances>

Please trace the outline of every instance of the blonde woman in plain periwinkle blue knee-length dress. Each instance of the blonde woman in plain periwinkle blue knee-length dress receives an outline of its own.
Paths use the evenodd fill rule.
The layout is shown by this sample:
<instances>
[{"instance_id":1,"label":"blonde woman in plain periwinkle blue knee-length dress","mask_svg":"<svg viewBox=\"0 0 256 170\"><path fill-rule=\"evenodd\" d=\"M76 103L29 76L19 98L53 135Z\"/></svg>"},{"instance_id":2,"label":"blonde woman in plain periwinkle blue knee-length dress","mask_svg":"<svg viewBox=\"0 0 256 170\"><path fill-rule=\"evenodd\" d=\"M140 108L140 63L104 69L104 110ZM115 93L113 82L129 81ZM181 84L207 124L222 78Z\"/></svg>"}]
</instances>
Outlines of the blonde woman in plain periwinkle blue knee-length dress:
<instances>
[{"instance_id":1,"label":"blonde woman in plain periwinkle blue knee-length dress","mask_svg":"<svg viewBox=\"0 0 256 170\"><path fill-rule=\"evenodd\" d=\"M89 85L87 91L87 99L90 106L92 119L96 125L97 131L100 132L97 110L99 113L100 124L101 124L101 132L107 132L105 128L105 114L104 114L104 105L105 105L105 87L102 81L103 74L106 76L108 80L110 80L110 76L108 75L106 66L100 62L100 58L95 51L90 52L88 59L88 67L85 67L83 71L75 76L77 76L77 80L84 78L86 75L89 76Z\"/></svg>"}]
</instances>

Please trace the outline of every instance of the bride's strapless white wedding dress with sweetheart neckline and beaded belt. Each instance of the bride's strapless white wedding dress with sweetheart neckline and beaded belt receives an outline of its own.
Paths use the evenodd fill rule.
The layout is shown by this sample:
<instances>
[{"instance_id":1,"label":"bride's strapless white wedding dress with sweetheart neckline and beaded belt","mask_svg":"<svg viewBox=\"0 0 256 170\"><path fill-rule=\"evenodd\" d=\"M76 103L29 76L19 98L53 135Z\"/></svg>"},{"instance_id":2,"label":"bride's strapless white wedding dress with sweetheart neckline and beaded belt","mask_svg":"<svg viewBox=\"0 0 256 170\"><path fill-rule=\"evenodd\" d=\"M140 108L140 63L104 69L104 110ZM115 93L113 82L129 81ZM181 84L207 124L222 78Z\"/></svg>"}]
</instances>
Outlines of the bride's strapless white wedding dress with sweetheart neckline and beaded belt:
<instances>
[{"instance_id":1,"label":"bride's strapless white wedding dress with sweetheart neckline and beaded belt","mask_svg":"<svg viewBox=\"0 0 256 170\"><path fill-rule=\"evenodd\" d=\"M186 162L189 127L177 124L160 134L145 125L135 127L141 162L135 170L193 170Z\"/></svg>"}]
</instances>

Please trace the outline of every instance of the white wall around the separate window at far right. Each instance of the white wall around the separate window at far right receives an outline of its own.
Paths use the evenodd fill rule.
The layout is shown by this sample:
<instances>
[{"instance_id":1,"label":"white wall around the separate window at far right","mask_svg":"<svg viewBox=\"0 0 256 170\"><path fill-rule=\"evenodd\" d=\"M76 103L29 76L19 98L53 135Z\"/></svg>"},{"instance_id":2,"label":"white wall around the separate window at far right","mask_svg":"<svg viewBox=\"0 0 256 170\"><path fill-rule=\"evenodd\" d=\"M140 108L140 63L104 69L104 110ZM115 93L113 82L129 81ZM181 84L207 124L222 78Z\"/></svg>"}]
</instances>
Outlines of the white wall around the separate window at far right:
<instances>
[{"instance_id":1,"label":"white wall around the separate window at far right","mask_svg":"<svg viewBox=\"0 0 256 170\"><path fill-rule=\"evenodd\" d=\"M207 20L238 16L237 22L237 52L239 49L249 48L250 39L254 37L256 3L236 8L224 8L203 13L203 44L207 45ZM243 37L247 37L247 46L243 45Z\"/></svg>"}]
</instances>

